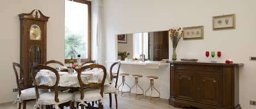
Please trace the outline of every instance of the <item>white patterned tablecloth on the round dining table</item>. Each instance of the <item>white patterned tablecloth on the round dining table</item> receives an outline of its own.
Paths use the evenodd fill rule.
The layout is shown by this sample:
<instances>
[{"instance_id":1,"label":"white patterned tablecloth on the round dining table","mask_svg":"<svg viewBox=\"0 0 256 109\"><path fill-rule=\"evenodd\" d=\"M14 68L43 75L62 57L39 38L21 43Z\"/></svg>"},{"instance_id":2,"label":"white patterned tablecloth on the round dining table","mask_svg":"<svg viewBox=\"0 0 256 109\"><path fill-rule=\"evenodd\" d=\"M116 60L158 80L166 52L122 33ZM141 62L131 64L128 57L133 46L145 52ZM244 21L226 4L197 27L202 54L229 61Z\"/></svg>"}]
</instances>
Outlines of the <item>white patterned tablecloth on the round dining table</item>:
<instances>
[{"instance_id":1,"label":"white patterned tablecloth on the round dining table","mask_svg":"<svg viewBox=\"0 0 256 109\"><path fill-rule=\"evenodd\" d=\"M81 74L81 79L84 82L84 84L102 82L102 79L103 79L102 69L94 68L89 72L93 72L93 74ZM50 73L38 72L37 75L35 76L35 81L37 81L37 85L53 86L56 82L56 75L52 72ZM108 85L110 81L111 81L110 76L109 74L107 74L104 84ZM78 73L74 72L73 74L59 75L58 86L79 87Z\"/></svg>"}]
</instances>

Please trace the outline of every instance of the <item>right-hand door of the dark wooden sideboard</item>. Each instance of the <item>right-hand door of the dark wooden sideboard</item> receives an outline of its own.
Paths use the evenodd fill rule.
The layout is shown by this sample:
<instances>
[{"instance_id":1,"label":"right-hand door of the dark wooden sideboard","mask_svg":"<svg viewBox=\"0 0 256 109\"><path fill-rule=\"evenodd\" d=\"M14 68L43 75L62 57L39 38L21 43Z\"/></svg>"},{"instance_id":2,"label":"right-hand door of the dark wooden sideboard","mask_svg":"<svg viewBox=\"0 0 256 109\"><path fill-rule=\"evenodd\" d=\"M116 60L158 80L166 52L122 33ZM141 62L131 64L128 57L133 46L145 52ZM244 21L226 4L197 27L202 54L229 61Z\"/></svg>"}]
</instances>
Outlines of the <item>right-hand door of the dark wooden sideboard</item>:
<instances>
[{"instance_id":1,"label":"right-hand door of the dark wooden sideboard","mask_svg":"<svg viewBox=\"0 0 256 109\"><path fill-rule=\"evenodd\" d=\"M203 104L222 106L222 75L198 74L197 97Z\"/></svg>"}]
</instances>

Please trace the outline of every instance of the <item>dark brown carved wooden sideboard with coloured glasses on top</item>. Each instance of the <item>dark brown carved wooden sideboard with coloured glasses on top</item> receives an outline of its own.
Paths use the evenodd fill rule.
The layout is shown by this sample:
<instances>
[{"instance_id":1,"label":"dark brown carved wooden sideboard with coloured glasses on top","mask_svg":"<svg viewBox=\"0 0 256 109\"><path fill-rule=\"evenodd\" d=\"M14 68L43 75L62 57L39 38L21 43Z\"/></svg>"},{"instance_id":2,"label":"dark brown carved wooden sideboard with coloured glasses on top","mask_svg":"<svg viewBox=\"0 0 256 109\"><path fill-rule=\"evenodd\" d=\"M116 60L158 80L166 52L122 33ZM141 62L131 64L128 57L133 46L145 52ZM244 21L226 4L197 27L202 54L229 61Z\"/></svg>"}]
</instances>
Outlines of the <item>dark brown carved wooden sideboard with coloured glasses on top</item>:
<instances>
[{"instance_id":1,"label":"dark brown carved wooden sideboard with coloured glasses on top","mask_svg":"<svg viewBox=\"0 0 256 109\"><path fill-rule=\"evenodd\" d=\"M240 66L243 63L171 62L169 104L174 107L240 109Z\"/></svg>"}]
</instances>

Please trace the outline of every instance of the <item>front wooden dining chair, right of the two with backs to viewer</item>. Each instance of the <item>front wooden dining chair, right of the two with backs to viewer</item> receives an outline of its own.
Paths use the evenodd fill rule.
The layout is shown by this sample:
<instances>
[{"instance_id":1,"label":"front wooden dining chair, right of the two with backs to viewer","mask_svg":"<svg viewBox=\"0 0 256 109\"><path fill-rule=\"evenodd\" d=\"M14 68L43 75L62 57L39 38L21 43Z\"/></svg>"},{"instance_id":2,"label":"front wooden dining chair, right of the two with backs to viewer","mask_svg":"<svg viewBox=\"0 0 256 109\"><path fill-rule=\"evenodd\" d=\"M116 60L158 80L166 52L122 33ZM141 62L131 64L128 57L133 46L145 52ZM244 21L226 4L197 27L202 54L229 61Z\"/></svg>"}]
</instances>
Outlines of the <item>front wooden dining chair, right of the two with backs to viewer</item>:
<instances>
[{"instance_id":1,"label":"front wooden dining chair, right of the two with backs to viewer","mask_svg":"<svg viewBox=\"0 0 256 109\"><path fill-rule=\"evenodd\" d=\"M81 74L85 69L91 69L91 68L99 68L103 70L103 79L100 83L89 83L89 84L84 84L84 82L81 79ZM88 102L91 101L99 101L99 105L97 108L103 109L103 94L104 94L104 82L106 79L106 68L102 65L88 65L80 68L78 70L78 80L79 80L79 85L80 85L80 91L74 92L74 101L76 103L79 103L81 106L81 109L86 108L96 108L91 106ZM83 79L84 80L84 79ZM91 87L99 87L99 88L91 88ZM76 107L78 108L78 107Z\"/></svg>"}]
</instances>

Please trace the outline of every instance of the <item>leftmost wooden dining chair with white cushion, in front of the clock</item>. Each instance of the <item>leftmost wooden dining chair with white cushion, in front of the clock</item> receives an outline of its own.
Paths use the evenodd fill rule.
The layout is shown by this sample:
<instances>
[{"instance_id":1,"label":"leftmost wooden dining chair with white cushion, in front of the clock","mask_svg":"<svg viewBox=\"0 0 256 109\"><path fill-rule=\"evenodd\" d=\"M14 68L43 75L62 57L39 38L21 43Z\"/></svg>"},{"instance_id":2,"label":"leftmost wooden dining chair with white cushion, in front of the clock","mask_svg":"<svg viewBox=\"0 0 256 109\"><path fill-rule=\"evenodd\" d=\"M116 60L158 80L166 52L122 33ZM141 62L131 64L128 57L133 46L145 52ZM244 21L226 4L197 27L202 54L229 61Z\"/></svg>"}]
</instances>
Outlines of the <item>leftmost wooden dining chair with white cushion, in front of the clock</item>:
<instances>
[{"instance_id":1,"label":"leftmost wooden dining chair with white cushion, in front of the clock","mask_svg":"<svg viewBox=\"0 0 256 109\"><path fill-rule=\"evenodd\" d=\"M28 100L36 99L35 97L35 88L34 87L26 87L25 86L25 74L23 67L16 62L13 62L13 69L16 77L16 84L18 89L18 97L15 102L17 102L17 108L21 108L21 104L23 104L23 109L26 108L26 102ZM17 72L17 69L20 69L20 74ZM38 91L39 94L48 92L47 89L40 89Z\"/></svg>"}]
</instances>

